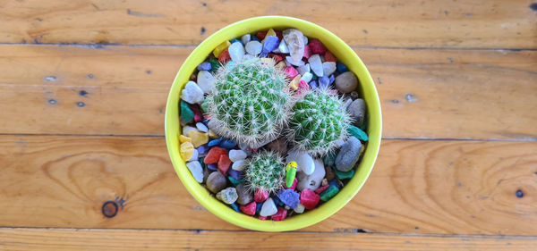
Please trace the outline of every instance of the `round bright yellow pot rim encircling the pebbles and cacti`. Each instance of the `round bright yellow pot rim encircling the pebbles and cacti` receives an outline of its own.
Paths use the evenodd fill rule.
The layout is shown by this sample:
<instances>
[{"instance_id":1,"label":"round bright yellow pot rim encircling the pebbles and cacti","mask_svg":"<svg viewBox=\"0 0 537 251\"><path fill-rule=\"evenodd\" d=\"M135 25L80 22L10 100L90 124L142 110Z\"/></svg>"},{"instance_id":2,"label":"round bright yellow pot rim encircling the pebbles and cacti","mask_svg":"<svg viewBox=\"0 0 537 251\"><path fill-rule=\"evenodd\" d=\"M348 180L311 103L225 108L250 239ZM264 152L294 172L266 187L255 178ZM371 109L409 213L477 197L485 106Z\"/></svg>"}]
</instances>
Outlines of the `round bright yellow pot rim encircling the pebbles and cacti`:
<instances>
[{"instance_id":1,"label":"round bright yellow pot rim encircling the pebbles and cacti","mask_svg":"<svg viewBox=\"0 0 537 251\"><path fill-rule=\"evenodd\" d=\"M212 50L220 45L225 40L239 38L246 33L253 33L258 30L286 29L295 28L303 31L303 34L309 38L319 38L320 41L328 48L328 50L336 55L337 60L345 63L350 71L353 71L358 79L360 79L360 90L363 99L367 105L367 114L369 115L368 130L369 143L365 148L365 153L358 170L354 177L346 184L336 197L330 199L327 203L320 205L311 212L294 215L282 222L260 221L257 218L248 216L243 213L235 212L231 207L224 205L217 198L209 195L209 191L203 188L200 183L196 182L192 174L186 167L184 160L179 155L178 136L181 133L181 125L179 124L179 99L181 89L184 84L190 79L192 72L196 67L205 61L206 57ZM337 38L327 29L324 29L309 21L303 21L290 17L283 16L264 16L256 17L243 21L235 22L226 26L224 29L218 30L216 33L205 39L200 46L190 54L184 61L183 66L177 72L170 94L166 104L166 145L172 163L175 167L175 172L183 181L184 187L196 198L201 205L207 208L211 213L224 219L226 222L233 223L237 226L261 231L286 231L297 230L307 226L311 226L320 222L330 215L336 213L354 195L362 188L363 183L373 169L375 160L379 153L380 137L382 131L382 121L380 114L380 103L377 89L369 71L365 68L362 60L354 53L351 47L347 46L341 38Z\"/></svg>"}]
</instances>

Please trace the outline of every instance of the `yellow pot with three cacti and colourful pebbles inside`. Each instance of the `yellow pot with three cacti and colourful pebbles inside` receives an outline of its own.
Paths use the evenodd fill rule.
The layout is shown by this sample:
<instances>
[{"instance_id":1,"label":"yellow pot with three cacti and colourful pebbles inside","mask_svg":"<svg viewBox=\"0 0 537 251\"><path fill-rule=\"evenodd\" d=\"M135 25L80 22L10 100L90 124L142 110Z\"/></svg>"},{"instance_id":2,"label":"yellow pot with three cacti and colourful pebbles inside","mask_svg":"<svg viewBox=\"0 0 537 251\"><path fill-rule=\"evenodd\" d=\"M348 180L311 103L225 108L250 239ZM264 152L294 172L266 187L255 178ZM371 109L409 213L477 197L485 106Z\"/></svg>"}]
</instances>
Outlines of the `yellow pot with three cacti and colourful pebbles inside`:
<instances>
[{"instance_id":1,"label":"yellow pot with three cacti and colourful pebbles inside","mask_svg":"<svg viewBox=\"0 0 537 251\"><path fill-rule=\"evenodd\" d=\"M303 35L312 29L328 46ZM191 57L170 91L166 141L179 177L211 212L250 229L292 230L335 213L362 186L379 146L378 96L339 38L263 17L220 30Z\"/></svg>"}]
</instances>

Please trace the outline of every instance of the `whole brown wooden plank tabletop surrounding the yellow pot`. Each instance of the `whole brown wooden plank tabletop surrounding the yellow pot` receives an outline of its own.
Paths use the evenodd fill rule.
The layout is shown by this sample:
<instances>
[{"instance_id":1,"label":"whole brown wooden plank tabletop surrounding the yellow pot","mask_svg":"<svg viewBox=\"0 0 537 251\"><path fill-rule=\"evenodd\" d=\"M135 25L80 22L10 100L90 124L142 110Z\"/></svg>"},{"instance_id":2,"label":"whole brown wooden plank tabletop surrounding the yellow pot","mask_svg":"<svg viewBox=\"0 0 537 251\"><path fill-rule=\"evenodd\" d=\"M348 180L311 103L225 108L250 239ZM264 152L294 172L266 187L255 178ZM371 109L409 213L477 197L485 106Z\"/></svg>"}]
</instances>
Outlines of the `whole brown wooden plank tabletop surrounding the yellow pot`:
<instances>
[{"instance_id":1,"label":"whole brown wooden plank tabletop surrounding the yellow pot","mask_svg":"<svg viewBox=\"0 0 537 251\"><path fill-rule=\"evenodd\" d=\"M272 14L353 46L384 114L362 191L288 233L201 207L164 138L185 57ZM534 0L0 0L0 43L0 250L537 248Z\"/></svg>"}]
</instances>

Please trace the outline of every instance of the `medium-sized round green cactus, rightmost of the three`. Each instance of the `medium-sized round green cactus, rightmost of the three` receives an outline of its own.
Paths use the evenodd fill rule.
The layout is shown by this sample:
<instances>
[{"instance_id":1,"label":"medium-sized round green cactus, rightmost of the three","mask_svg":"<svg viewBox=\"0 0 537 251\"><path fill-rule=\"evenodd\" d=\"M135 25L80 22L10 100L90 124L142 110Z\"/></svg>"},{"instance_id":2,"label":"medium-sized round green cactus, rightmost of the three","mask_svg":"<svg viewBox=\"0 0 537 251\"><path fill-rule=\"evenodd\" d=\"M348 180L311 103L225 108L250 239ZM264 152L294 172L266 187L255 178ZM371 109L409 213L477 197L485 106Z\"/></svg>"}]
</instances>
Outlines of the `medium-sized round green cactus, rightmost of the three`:
<instances>
[{"instance_id":1,"label":"medium-sized round green cactus, rightmost of the three","mask_svg":"<svg viewBox=\"0 0 537 251\"><path fill-rule=\"evenodd\" d=\"M311 155L326 155L339 139L348 137L351 116L343 100L328 88L316 88L296 102L289 119L287 138L298 150Z\"/></svg>"}]
</instances>

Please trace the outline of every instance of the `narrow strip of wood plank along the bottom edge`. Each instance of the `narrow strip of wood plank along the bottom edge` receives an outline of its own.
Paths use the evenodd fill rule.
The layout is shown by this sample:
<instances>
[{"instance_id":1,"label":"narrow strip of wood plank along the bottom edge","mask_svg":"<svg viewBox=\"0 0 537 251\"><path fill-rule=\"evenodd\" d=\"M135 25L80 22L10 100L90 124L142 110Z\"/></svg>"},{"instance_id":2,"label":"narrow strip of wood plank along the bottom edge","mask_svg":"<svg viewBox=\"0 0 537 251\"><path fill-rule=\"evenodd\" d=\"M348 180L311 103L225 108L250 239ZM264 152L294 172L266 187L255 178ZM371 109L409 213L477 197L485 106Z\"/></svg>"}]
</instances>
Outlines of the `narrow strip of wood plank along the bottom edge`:
<instances>
[{"instance_id":1,"label":"narrow strip of wood plank along the bottom edge","mask_svg":"<svg viewBox=\"0 0 537 251\"><path fill-rule=\"evenodd\" d=\"M237 238L239 237L240 238ZM267 241L269 240L269 241ZM0 229L2 250L533 250L537 238L185 230Z\"/></svg>"}]
</instances>

